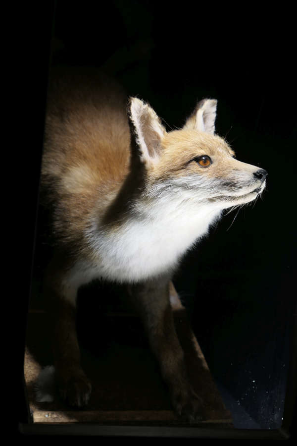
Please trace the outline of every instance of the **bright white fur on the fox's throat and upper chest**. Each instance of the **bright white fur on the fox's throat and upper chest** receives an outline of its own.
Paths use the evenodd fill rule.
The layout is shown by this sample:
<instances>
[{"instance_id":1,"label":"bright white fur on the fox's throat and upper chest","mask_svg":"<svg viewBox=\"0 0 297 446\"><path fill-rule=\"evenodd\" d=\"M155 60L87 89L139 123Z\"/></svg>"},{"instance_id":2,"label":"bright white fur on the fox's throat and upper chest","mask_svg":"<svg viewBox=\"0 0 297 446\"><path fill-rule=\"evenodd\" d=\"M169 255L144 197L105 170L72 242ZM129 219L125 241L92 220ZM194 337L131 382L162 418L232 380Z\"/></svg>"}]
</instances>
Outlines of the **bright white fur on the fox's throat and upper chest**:
<instances>
[{"instance_id":1,"label":"bright white fur on the fox's throat and upper chest","mask_svg":"<svg viewBox=\"0 0 297 446\"><path fill-rule=\"evenodd\" d=\"M132 217L117 230L104 232L94 226L87 237L99 259L98 273L106 279L133 282L174 270L219 216L217 206L193 206L186 213L176 200L165 199L151 206L145 218ZM91 271L95 274L96 267L92 265Z\"/></svg>"}]
</instances>

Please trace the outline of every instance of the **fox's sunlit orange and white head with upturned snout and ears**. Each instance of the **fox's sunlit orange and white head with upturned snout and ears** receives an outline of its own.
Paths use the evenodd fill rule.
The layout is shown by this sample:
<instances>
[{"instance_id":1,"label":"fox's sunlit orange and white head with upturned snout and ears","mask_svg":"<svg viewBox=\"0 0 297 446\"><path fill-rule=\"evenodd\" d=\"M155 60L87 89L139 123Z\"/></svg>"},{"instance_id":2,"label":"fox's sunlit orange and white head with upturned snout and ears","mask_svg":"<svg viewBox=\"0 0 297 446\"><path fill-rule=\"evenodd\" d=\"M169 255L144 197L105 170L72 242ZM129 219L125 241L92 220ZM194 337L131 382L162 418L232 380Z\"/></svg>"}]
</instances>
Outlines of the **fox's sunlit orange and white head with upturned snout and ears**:
<instances>
[{"instance_id":1,"label":"fox's sunlit orange and white head with upturned snout and ears","mask_svg":"<svg viewBox=\"0 0 297 446\"><path fill-rule=\"evenodd\" d=\"M182 129L167 132L155 111L131 98L129 117L145 169L150 197L211 205L223 210L254 200L265 188L267 172L235 158L215 134L217 101L204 99Z\"/></svg>"}]
</instances>

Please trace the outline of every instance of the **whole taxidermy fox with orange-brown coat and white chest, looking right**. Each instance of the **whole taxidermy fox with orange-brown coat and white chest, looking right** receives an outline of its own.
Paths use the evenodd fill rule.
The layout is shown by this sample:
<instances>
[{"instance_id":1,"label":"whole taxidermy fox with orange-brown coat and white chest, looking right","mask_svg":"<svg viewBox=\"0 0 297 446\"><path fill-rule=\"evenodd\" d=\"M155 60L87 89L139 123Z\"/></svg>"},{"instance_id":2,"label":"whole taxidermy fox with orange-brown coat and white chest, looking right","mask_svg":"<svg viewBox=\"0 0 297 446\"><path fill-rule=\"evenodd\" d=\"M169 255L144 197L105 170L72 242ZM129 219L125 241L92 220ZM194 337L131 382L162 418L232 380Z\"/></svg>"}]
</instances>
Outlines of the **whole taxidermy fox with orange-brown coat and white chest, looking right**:
<instances>
[{"instance_id":1,"label":"whole taxidermy fox with orange-brown coat and white chest, looking right","mask_svg":"<svg viewBox=\"0 0 297 446\"><path fill-rule=\"evenodd\" d=\"M254 200L267 172L235 159L215 135L217 101L198 102L184 127L167 132L138 98L88 70L49 83L41 197L51 209L55 254L45 293L55 315L60 394L88 403L80 365L78 288L94 279L129 286L177 413L199 418L169 300L185 252L222 211Z\"/></svg>"}]
</instances>

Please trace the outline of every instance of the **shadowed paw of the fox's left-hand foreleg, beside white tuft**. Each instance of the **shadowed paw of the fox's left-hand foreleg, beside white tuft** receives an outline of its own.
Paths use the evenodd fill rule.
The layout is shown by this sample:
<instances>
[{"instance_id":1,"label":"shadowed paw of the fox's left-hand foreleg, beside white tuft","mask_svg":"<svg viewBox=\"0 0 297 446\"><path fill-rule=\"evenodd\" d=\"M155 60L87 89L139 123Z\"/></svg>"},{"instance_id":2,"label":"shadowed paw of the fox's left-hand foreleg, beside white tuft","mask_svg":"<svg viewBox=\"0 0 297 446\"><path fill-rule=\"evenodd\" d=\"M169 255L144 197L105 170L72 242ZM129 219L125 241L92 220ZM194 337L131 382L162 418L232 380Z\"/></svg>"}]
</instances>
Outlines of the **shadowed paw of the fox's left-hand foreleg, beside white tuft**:
<instances>
[{"instance_id":1,"label":"shadowed paw of the fox's left-hand foreleg, beside white tuft","mask_svg":"<svg viewBox=\"0 0 297 446\"><path fill-rule=\"evenodd\" d=\"M58 386L62 399L69 406L84 407L89 403L92 386L83 372L64 375Z\"/></svg>"}]
</instances>

